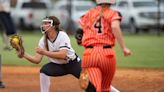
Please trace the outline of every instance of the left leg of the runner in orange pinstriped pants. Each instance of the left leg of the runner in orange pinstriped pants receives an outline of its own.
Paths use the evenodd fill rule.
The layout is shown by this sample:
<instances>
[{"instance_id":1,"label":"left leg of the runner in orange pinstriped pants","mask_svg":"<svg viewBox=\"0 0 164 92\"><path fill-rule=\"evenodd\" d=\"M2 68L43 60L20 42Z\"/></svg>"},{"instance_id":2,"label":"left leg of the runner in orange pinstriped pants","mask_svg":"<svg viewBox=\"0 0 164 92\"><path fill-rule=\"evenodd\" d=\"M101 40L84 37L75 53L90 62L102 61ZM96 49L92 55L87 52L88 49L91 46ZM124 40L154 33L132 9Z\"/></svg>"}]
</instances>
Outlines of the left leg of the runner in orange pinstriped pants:
<instances>
[{"instance_id":1,"label":"left leg of the runner in orange pinstriped pants","mask_svg":"<svg viewBox=\"0 0 164 92\"><path fill-rule=\"evenodd\" d=\"M83 53L83 61L82 61L82 68L83 70L87 70L88 71L88 75L89 75L89 85L88 87L86 87L85 85L87 84L87 80L83 77L81 77L81 81L83 84L81 84L82 88L87 88L86 92L101 92L101 72L100 70L97 68L97 61L99 56L97 56L98 50L95 50L94 48L89 48L89 49L85 49L84 53ZM94 68L95 67L95 68ZM85 75L85 73L84 73ZM93 85L92 85L93 84ZM84 85L84 87L83 87ZM92 91L90 91L90 89L92 89Z\"/></svg>"}]
</instances>

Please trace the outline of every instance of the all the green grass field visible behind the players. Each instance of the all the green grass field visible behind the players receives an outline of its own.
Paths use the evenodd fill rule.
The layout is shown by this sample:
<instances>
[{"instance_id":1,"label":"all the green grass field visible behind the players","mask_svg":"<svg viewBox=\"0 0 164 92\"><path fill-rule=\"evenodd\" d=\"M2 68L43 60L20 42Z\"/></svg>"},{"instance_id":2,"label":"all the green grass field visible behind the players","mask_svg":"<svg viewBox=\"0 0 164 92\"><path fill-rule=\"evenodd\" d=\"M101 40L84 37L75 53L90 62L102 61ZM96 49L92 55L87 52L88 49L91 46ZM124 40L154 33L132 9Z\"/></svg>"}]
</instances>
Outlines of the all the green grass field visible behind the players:
<instances>
[{"instance_id":1,"label":"all the green grass field visible behind the players","mask_svg":"<svg viewBox=\"0 0 164 92\"><path fill-rule=\"evenodd\" d=\"M35 54L35 47L37 47L38 41L42 34L40 32L21 33L24 39L24 46L26 52ZM82 56L83 47L78 46L73 36L70 36L72 46L76 50L77 54ZM133 55L131 57L124 57L118 44L116 44L117 52L117 65L118 67L128 68L164 68L164 34L160 37L155 34L124 34L124 40L127 46L132 50ZM0 49L3 65L34 65L24 59L17 58L15 51L3 51L2 50L2 37L0 38ZM42 65L47 62L47 58L44 58Z\"/></svg>"}]
</instances>

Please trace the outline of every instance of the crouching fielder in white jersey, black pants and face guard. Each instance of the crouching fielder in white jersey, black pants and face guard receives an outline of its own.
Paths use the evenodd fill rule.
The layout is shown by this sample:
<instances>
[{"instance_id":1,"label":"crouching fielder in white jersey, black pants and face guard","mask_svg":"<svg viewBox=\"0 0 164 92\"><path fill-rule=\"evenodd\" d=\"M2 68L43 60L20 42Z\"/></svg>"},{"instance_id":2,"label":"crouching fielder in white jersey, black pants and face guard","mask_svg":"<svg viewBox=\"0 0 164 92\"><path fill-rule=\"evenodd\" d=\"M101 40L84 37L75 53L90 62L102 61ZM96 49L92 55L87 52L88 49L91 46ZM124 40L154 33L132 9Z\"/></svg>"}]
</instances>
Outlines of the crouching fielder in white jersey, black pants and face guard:
<instances>
[{"instance_id":1,"label":"crouching fielder in white jersey, black pants and face guard","mask_svg":"<svg viewBox=\"0 0 164 92\"><path fill-rule=\"evenodd\" d=\"M40 69L41 92L49 92L49 76L62 76L72 74L79 78L81 60L70 44L68 35L59 30L59 20L55 16L46 17L41 26L44 36L36 48L37 54L31 56L25 53L24 58L32 63L40 63L43 56L48 57L48 64Z\"/></svg>"}]
</instances>

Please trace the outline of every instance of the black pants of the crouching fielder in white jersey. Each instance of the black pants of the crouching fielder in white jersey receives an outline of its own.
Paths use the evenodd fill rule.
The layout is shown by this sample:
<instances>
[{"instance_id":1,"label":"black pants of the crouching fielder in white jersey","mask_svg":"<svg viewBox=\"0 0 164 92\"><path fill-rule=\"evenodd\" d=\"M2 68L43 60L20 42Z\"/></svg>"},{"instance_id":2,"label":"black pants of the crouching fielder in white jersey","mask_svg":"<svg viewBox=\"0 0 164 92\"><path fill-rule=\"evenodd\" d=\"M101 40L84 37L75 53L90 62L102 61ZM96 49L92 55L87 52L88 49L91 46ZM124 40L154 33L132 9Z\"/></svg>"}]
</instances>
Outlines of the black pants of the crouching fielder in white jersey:
<instances>
[{"instance_id":1,"label":"black pants of the crouching fielder in white jersey","mask_svg":"<svg viewBox=\"0 0 164 92\"><path fill-rule=\"evenodd\" d=\"M48 76L63 76L66 74L72 74L76 78L80 77L80 72L81 61L78 61L77 59L67 64L55 64L50 62L45 64L40 70L40 73L44 73ZM96 89L91 83L89 83L86 92L96 92Z\"/></svg>"}]
</instances>

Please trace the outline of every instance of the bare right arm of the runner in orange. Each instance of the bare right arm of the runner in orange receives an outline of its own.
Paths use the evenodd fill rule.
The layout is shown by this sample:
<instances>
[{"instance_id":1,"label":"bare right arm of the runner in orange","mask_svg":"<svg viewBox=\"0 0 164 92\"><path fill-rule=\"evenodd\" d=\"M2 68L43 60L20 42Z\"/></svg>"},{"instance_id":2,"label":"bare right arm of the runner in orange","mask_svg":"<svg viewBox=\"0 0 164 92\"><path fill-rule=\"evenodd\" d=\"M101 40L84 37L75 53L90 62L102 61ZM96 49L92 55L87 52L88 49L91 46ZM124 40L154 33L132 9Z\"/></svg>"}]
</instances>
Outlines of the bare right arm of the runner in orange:
<instances>
[{"instance_id":1,"label":"bare right arm of the runner in orange","mask_svg":"<svg viewBox=\"0 0 164 92\"><path fill-rule=\"evenodd\" d=\"M131 54L131 51L125 46L123 37L122 37L122 32L121 32L121 28L120 28L120 20L114 20L112 22L112 32L114 34L114 36L116 37L121 49L123 50L123 53L125 56L128 56Z\"/></svg>"}]
</instances>

